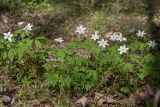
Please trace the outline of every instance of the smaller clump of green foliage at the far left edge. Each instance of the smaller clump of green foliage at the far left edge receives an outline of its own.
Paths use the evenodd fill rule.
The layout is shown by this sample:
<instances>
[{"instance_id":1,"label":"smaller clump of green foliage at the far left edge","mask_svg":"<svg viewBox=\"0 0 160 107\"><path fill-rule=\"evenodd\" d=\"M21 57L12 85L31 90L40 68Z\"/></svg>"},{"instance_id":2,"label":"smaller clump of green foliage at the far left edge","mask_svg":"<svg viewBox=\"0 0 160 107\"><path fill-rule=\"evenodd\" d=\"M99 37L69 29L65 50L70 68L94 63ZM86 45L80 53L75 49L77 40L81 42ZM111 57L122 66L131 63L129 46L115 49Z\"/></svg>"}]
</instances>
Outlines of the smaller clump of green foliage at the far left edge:
<instances>
[{"instance_id":1,"label":"smaller clump of green foliage at the far left edge","mask_svg":"<svg viewBox=\"0 0 160 107\"><path fill-rule=\"evenodd\" d=\"M41 49L43 37L32 38L32 33L24 30L14 32L12 42L7 41L1 35L1 61L2 70L18 80L34 73L40 75L41 63L45 58L45 52ZM38 76L35 75L35 76Z\"/></svg>"}]
</instances>

